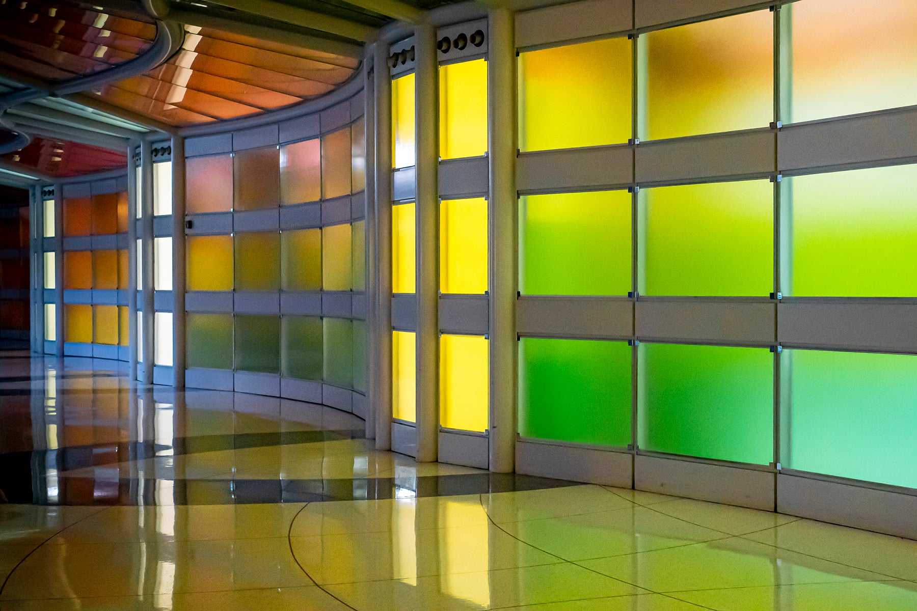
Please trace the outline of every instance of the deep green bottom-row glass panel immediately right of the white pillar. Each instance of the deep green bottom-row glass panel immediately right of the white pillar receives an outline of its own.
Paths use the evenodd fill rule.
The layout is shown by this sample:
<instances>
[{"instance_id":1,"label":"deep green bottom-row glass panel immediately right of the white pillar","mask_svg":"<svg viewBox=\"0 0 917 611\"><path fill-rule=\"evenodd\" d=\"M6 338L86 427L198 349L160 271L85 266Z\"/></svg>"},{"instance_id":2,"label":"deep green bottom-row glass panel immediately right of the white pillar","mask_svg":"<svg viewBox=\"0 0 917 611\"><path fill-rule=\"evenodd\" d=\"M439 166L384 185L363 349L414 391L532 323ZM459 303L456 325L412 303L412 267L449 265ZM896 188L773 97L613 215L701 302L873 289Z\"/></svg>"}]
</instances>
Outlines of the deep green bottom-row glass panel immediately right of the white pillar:
<instances>
[{"instance_id":1,"label":"deep green bottom-row glass panel immediately right of the white pillar","mask_svg":"<svg viewBox=\"0 0 917 611\"><path fill-rule=\"evenodd\" d=\"M519 434L624 447L631 442L631 348L623 342L519 341Z\"/></svg>"}]
</instances>

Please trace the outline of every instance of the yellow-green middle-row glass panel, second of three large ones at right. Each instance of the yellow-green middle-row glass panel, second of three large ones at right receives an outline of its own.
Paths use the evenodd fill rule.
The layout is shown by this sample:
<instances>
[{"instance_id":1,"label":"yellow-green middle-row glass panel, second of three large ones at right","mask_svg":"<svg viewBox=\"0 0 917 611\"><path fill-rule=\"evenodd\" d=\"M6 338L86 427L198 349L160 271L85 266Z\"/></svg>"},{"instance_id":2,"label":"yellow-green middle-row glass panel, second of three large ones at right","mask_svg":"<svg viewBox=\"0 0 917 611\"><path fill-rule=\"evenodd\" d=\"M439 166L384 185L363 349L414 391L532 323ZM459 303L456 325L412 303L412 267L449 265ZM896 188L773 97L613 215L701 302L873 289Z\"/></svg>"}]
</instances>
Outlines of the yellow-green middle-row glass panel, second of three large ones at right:
<instances>
[{"instance_id":1,"label":"yellow-green middle-row glass panel, second of three large ones at right","mask_svg":"<svg viewBox=\"0 0 917 611\"><path fill-rule=\"evenodd\" d=\"M768 180L644 189L640 200L646 235L641 293L766 296L773 290Z\"/></svg>"}]
</instances>

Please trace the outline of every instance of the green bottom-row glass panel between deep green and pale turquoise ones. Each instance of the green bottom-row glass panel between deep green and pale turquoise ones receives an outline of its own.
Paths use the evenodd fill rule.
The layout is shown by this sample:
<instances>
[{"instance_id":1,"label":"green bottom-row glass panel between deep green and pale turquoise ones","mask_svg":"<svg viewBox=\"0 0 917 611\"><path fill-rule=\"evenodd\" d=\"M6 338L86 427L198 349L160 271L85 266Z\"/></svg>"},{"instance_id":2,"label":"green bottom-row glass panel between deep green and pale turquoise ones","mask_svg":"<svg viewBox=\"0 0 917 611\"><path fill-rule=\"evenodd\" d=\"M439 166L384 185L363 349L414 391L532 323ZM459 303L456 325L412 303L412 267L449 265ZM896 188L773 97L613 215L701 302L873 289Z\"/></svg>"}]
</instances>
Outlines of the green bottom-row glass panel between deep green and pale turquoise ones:
<instances>
[{"instance_id":1,"label":"green bottom-row glass panel between deep green and pale turquoise ones","mask_svg":"<svg viewBox=\"0 0 917 611\"><path fill-rule=\"evenodd\" d=\"M768 464L774 358L765 348L640 344L641 450Z\"/></svg>"}]
</instances>

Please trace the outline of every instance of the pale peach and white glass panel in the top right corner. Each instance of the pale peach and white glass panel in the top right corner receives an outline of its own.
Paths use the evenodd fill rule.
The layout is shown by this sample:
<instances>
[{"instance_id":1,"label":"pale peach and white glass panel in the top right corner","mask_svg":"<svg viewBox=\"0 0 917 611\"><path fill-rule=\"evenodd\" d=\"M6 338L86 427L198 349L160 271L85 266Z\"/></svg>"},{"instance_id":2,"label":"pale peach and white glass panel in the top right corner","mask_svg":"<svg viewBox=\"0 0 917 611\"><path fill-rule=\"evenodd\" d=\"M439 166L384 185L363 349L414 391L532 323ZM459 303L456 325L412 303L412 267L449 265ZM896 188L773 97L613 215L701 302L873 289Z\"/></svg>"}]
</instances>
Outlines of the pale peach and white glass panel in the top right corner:
<instances>
[{"instance_id":1,"label":"pale peach and white glass panel in the top right corner","mask_svg":"<svg viewBox=\"0 0 917 611\"><path fill-rule=\"evenodd\" d=\"M780 11L792 41L784 123L917 104L911 0L805 0Z\"/></svg>"}]
</instances>

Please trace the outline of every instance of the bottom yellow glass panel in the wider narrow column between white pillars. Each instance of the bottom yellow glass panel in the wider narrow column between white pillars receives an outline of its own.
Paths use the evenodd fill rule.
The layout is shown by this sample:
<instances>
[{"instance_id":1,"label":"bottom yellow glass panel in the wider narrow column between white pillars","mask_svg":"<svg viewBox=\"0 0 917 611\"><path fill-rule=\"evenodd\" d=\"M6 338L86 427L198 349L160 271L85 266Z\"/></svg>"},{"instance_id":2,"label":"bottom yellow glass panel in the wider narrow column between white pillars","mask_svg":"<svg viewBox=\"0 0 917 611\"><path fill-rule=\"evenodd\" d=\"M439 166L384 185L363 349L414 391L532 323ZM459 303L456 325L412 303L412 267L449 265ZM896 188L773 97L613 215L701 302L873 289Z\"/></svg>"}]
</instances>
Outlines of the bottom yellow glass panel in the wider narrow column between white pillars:
<instances>
[{"instance_id":1,"label":"bottom yellow glass panel in the wider narrow column between white pillars","mask_svg":"<svg viewBox=\"0 0 917 611\"><path fill-rule=\"evenodd\" d=\"M488 341L439 337L439 421L447 429L486 431L490 405Z\"/></svg>"}]
</instances>

